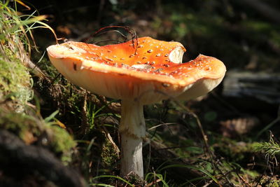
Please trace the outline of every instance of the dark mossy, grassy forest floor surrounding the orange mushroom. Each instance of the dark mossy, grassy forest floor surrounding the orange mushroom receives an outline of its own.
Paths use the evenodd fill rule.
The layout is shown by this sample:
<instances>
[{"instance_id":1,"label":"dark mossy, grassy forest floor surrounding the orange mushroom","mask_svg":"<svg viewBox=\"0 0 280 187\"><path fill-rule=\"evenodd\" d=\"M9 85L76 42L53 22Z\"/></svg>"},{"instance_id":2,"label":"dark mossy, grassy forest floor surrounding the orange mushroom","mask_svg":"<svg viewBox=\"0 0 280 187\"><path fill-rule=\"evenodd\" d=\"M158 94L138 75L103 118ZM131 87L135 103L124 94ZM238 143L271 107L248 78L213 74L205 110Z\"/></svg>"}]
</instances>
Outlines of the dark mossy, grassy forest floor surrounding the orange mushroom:
<instances>
[{"instance_id":1,"label":"dark mossy, grassy forest floor surrounding the orange mushroom","mask_svg":"<svg viewBox=\"0 0 280 187\"><path fill-rule=\"evenodd\" d=\"M232 71L277 75L275 20L255 18L255 10L231 1L146 1L140 10L137 1L74 7L77 2L34 3L47 21L31 15L32 8L22 10L26 4L18 4L19 15L15 4L1 1L0 186L279 186L279 97L228 96L222 83L189 102L144 106L145 180L121 178L120 102L73 85L45 54L54 32L74 41L120 40L118 32L130 33L91 36L107 25L128 25L138 36L183 43L183 62L202 53L225 62L228 77Z\"/></svg>"}]
</instances>

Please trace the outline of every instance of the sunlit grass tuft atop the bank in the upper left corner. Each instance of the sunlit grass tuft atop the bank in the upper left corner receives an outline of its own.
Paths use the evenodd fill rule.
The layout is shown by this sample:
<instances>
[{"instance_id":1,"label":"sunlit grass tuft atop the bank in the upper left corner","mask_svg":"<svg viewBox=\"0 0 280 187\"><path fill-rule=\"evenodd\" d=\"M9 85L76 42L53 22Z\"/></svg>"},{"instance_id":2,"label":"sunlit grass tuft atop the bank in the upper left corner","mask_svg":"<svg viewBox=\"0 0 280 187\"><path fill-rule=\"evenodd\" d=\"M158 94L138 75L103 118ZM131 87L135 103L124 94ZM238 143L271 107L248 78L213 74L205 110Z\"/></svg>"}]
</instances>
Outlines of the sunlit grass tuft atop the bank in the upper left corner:
<instances>
[{"instance_id":1,"label":"sunlit grass tuft atop the bank in the upper left corner","mask_svg":"<svg viewBox=\"0 0 280 187\"><path fill-rule=\"evenodd\" d=\"M31 52L31 48L36 48L33 29L45 28L49 29L57 40L55 31L45 22L47 15L36 15L34 11L30 15L23 15L18 12L18 4L28 7L22 1L0 1L0 41L2 44L8 42L17 46L20 53ZM12 8L13 6L13 8ZM25 50L20 48L19 43L23 43Z\"/></svg>"}]
</instances>

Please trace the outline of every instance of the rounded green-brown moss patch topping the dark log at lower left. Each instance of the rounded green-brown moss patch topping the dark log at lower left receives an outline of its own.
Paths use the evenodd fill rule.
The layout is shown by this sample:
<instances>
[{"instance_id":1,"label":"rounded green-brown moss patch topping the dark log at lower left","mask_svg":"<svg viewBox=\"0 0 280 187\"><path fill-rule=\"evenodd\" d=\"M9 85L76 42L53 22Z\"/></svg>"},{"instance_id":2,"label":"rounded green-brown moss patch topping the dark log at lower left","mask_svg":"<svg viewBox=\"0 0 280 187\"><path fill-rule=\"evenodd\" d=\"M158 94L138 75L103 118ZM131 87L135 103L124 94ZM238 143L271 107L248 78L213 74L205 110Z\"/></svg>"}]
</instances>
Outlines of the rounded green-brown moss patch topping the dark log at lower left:
<instances>
[{"instance_id":1,"label":"rounded green-brown moss patch topping the dark log at lower left","mask_svg":"<svg viewBox=\"0 0 280 187\"><path fill-rule=\"evenodd\" d=\"M46 125L43 120L25 113L4 113L0 110L0 128L13 132L26 144L48 148L64 163L71 160L71 151L76 146L66 130Z\"/></svg>"}]
</instances>

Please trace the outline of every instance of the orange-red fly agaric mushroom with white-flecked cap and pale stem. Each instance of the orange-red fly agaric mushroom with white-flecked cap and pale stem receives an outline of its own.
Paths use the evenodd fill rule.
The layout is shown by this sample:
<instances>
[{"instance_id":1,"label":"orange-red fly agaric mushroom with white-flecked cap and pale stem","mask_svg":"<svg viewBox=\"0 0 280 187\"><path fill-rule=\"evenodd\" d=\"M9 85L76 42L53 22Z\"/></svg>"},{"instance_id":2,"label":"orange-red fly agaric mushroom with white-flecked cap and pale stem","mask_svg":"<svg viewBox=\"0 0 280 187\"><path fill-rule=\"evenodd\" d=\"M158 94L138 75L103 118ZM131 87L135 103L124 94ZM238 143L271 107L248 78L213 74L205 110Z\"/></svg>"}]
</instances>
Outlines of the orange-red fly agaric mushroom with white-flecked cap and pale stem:
<instances>
[{"instance_id":1,"label":"orange-red fly agaric mushroom with white-flecked cap and pale stem","mask_svg":"<svg viewBox=\"0 0 280 187\"><path fill-rule=\"evenodd\" d=\"M48 47L58 71L86 90L122 99L120 174L144 176L142 139L146 136L144 104L177 97L191 99L214 89L225 65L199 55L181 63L186 51L178 42L150 37L108 46L69 41Z\"/></svg>"}]
</instances>

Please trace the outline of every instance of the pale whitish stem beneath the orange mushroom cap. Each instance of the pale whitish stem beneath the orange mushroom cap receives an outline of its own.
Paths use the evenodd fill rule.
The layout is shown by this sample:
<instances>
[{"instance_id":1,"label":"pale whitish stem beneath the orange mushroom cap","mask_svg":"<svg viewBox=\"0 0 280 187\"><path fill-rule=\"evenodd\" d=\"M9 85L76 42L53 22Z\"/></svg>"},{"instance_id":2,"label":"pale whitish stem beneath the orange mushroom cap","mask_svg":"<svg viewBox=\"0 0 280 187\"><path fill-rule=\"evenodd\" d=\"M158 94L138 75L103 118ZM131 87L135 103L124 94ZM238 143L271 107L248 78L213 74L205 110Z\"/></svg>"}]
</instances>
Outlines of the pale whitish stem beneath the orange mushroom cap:
<instances>
[{"instance_id":1,"label":"pale whitish stem beneath the orange mushroom cap","mask_svg":"<svg viewBox=\"0 0 280 187\"><path fill-rule=\"evenodd\" d=\"M134 173L143 178L142 140L146 132L143 104L134 100L123 100L121 116L120 175Z\"/></svg>"}]
</instances>

